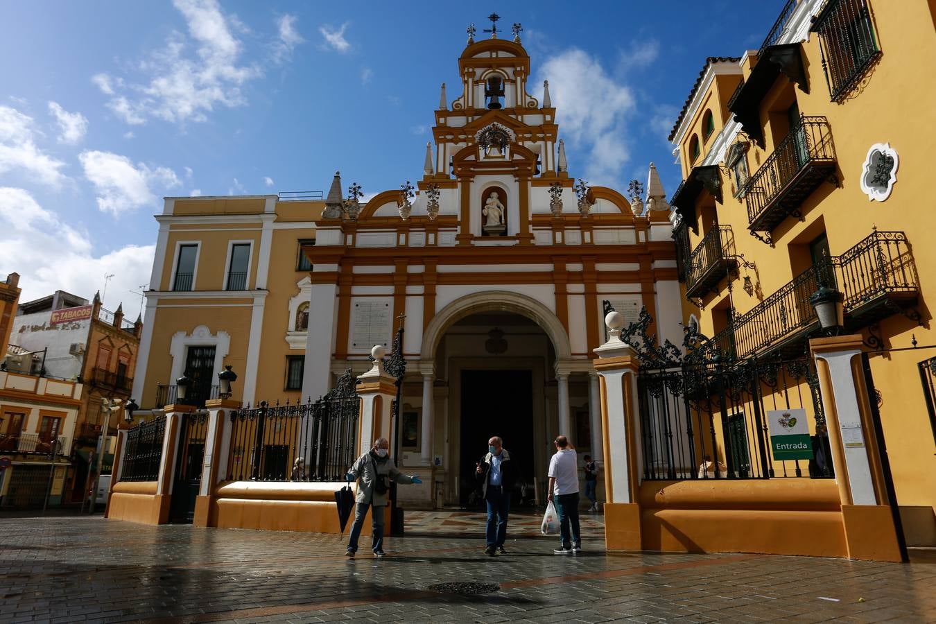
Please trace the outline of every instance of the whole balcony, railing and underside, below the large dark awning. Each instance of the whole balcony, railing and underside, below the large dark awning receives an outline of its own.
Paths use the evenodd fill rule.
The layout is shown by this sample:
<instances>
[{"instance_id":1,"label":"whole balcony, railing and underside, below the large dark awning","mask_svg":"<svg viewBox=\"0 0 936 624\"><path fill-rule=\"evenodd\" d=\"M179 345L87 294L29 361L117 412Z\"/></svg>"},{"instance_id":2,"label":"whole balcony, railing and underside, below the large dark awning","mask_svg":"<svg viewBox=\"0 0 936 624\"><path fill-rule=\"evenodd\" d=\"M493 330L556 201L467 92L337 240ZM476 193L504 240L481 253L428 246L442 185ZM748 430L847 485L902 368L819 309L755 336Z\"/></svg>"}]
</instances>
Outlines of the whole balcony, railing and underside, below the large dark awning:
<instances>
[{"instance_id":1,"label":"whole balcony, railing and underside, below the large dark awning","mask_svg":"<svg viewBox=\"0 0 936 624\"><path fill-rule=\"evenodd\" d=\"M825 117L802 116L744 185L748 229L769 233L799 207L836 167L832 131ZM756 236L756 234L755 234Z\"/></svg>"}]
</instances>

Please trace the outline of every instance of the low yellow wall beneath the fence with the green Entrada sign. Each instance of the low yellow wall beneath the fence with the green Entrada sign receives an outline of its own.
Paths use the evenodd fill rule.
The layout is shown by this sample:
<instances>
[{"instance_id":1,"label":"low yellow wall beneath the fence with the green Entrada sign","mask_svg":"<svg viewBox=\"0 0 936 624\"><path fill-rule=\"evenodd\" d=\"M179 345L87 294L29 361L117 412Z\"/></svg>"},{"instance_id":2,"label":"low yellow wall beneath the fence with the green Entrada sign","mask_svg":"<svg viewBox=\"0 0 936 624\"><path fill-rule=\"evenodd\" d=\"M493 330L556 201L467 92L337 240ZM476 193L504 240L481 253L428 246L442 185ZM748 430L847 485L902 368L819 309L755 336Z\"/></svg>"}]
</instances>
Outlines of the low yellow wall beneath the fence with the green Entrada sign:
<instances>
[{"instance_id":1,"label":"low yellow wall beneath the fence with the green Entrada sign","mask_svg":"<svg viewBox=\"0 0 936 624\"><path fill-rule=\"evenodd\" d=\"M831 479L645 482L640 533L647 550L849 555Z\"/></svg>"}]
</instances>

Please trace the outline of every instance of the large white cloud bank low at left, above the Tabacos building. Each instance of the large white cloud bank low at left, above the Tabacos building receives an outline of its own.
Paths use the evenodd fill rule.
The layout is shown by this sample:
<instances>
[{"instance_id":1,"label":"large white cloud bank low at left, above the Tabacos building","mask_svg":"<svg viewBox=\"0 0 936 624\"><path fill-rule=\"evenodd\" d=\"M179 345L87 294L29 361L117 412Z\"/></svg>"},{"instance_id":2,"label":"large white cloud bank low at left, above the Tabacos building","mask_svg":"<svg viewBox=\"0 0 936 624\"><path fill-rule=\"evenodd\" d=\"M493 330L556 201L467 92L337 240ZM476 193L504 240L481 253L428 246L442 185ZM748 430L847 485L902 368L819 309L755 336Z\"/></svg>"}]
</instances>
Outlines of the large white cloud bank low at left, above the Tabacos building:
<instances>
[{"instance_id":1,"label":"large white cloud bank low at left, above the Tabacos building","mask_svg":"<svg viewBox=\"0 0 936 624\"><path fill-rule=\"evenodd\" d=\"M104 275L112 273L105 306L114 310L123 301L127 317L136 318L137 308L130 302L139 297L130 291L149 281L154 245L127 245L95 255L96 245L86 232L66 225L27 191L11 187L0 187L0 231L5 252L0 256L0 273L20 273L22 301L60 288L90 299L101 288Z\"/></svg>"}]
</instances>

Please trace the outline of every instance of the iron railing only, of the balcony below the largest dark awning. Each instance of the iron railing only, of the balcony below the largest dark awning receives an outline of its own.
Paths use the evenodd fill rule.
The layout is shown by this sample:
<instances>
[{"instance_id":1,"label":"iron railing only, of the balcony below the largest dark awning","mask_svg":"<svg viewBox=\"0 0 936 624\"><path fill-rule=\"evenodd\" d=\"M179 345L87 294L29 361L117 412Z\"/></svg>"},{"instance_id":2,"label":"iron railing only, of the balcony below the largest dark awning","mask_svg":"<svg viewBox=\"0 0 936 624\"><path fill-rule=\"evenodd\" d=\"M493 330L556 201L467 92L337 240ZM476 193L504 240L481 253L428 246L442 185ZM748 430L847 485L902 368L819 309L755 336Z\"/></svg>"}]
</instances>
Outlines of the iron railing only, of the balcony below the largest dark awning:
<instances>
[{"instance_id":1,"label":"iron railing only, of the balcony below the largest dark awning","mask_svg":"<svg viewBox=\"0 0 936 624\"><path fill-rule=\"evenodd\" d=\"M764 161L764 165L744 185L748 222L754 225L768 211L777 207L793 188L800 171L817 163L835 162L832 131L826 118L801 116L799 123L790 129L789 134ZM793 210L798 201L791 202L790 206L785 207L788 209L786 211Z\"/></svg>"}]
</instances>

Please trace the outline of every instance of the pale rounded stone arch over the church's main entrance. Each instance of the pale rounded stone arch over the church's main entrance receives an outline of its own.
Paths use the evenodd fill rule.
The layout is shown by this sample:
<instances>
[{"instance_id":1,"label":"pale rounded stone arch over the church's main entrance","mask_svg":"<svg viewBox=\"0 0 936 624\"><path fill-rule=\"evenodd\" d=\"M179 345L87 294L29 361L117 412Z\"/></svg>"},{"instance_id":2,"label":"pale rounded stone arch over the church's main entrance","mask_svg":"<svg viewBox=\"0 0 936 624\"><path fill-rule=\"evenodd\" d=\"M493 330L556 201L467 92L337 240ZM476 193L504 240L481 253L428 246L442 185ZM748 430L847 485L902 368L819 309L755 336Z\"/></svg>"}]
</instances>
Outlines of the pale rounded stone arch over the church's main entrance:
<instances>
[{"instance_id":1,"label":"pale rounded stone arch over the church's main entrance","mask_svg":"<svg viewBox=\"0 0 936 624\"><path fill-rule=\"evenodd\" d=\"M505 290L488 290L459 297L432 316L422 336L420 359L427 362L433 359L435 348L448 327L476 312L490 311L514 312L526 316L546 332L549 341L552 341L552 347L556 350L557 361L572 357L572 345L569 342L568 332L565 331L565 327L555 312L533 297Z\"/></svg>"}]
</instances>

